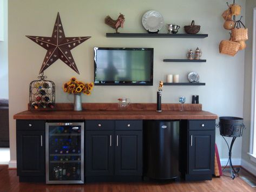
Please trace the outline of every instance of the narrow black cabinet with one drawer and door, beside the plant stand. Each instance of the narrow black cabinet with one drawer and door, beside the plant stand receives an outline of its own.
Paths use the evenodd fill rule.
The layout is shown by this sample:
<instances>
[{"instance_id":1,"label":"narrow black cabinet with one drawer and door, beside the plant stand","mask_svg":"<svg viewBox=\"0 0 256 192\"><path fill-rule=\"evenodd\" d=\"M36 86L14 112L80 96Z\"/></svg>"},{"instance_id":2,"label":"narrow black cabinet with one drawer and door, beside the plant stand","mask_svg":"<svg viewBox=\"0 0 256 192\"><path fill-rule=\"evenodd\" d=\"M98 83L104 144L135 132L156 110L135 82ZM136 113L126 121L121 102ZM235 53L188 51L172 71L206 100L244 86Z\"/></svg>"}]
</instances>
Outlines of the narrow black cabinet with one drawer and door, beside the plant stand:
<instances>
[{"instance_id":1,"label":"narrow black cabinet with one drawer and door, beside the plant stand","mask_svg":"<svg viewBox=\"0 0 256 192\"><path fill-rule=\"evenodd\" d=\"M214 173L214 120L189 120L186 180L211 180Z\"/></svg>"}]
</instances>

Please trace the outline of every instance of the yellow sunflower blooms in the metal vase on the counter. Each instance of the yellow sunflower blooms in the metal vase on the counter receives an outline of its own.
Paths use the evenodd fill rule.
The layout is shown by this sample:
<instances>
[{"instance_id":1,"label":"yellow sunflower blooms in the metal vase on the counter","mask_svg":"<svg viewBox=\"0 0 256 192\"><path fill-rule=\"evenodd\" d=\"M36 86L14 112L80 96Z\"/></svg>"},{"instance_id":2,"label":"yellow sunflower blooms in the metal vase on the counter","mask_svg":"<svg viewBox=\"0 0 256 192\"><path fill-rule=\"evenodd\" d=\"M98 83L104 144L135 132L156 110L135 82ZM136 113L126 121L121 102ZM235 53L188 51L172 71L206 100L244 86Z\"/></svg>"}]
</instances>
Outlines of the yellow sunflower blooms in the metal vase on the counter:
<instances>
[{"instance_id":1,"label":"yellow sunflower blooms in the metal vase on the counter","mask_svg":"<svg viewBox=\"0 0 256 192\"><path fill-rule=\"evenodd\" d=\"M68 92L69 94L81 94L90 95L93 90L94 84L91 83L83 83L81 81L77 81L75 77L70 78L70 81L63 84L64 92Z\"/></svg>"}]
</instances>

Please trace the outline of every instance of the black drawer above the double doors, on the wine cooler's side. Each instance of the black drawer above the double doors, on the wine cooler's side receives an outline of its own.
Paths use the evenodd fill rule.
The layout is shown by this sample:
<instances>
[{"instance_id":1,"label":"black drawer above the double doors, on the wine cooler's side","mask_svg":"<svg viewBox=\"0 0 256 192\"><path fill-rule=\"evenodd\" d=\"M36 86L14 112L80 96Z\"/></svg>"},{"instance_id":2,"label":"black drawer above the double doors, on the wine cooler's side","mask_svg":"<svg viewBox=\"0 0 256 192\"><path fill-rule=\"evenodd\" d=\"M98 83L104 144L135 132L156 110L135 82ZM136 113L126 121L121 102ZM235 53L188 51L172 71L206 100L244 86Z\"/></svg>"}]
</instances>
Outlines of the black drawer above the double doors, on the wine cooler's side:
<instances>
[{"instance_id":1,"label":"black drawer above the double doors, on the wine cooler's side","mask_svg":"<svg viewBox=\"0 0 256 192\"><path fill-rule=\"evenodd\" d=\"M88 120L86 130L113 130L115 121L113 120Z\"/></svg>"}]
</instances>

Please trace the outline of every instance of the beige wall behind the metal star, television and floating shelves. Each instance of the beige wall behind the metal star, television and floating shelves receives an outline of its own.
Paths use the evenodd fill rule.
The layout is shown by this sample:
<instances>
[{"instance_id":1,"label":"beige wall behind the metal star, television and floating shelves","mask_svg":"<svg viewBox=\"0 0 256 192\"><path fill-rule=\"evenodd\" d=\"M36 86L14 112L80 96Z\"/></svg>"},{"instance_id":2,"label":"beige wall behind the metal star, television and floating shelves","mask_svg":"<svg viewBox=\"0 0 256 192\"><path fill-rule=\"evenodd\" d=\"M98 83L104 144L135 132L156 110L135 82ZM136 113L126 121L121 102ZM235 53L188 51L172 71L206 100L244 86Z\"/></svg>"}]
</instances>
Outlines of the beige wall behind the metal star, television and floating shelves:
<instances>
[{"instance_id":1,"label":"beige wall behind the metal star, television and floating shelves","mask_svg":"<svg viewBox=\"0 0 256 192\"><path fill-rule=\"evenodd\" d=\"M245 7L245 1L236 1ZM158 82L167 74L180 74L180 81L187 82L187 74L196 71L200 82L206 86L166 86L163 103L178 103L179 96L186 96L191 103L192 95L200 96L203 109L218 116L242 117L244 91L244 51L230 57L219 54L219 42L228 39L228 31L222 25L222 12L227 8L222 0L142 0L142 1L68 1L68 0L23 0L9 1L9 98L10 98L10 146L11 160L16 160L15 121L12 116L27 109L29 83L37 79L46 50L30 41L25 35L51 36L57 12L60 12L65 35L92 36L73 49L78 70L73 70L58 60L45 70L48 79L55 82L56 102L72 102L61 87L71 76L82 81L93 81L93 47L148 47L154 48L154 86L117 87L97 86L91 96L83 96L83 102L117 102L119 97L129 97L133 103L156 102ZM141 24L142 15L148 10L161 12L165 23L183 26L191 23L201 25L201 34L208 38L106 38L106 32L114 32L104 24L104 17L116 18L119 12L126 17L120 32L146 32ZM244 15L242 9L242 15ZM165 27L160 31L166 33ZM202 49L202 58L207 63L163 63L163 58L185 58L189 49ZM166 80L165 80L166 81ZM216 130L216 143L221 158L227 158L227 147ZM241 157L241 138L234 144L234 158Z\"/></svg>"}]
</instances>

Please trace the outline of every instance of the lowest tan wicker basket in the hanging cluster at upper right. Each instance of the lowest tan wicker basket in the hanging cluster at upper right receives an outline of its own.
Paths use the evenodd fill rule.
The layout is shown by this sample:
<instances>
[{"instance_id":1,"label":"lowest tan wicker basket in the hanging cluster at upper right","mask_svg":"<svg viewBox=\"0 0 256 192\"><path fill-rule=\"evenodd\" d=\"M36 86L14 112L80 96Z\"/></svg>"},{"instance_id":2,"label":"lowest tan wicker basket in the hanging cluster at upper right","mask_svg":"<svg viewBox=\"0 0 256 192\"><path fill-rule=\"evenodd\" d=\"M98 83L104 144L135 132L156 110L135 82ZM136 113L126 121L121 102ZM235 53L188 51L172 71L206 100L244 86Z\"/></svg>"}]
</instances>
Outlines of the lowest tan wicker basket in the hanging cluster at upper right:
<instances>
[{"instance_id":1,"label":"lowest tan wicker basket in the hanging cluster at upper right","mask_svg":"<svg viewBox=\"0 0 256 192\"><path fill-rule=\"evenodd\" d=\"M234 56L239 50L240 44L238 42L222 40L219 45L220 54Z\"/></svg>"}]
</instances>

